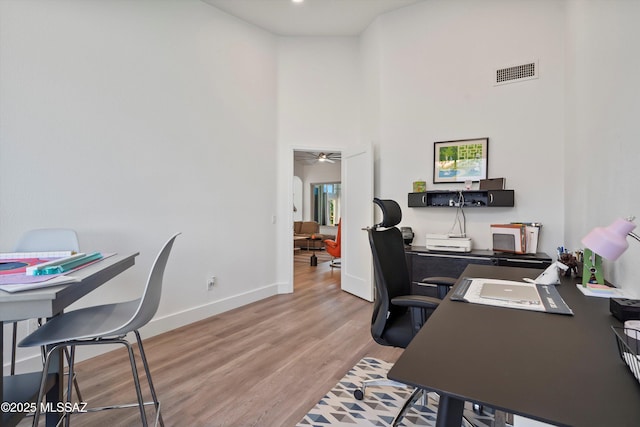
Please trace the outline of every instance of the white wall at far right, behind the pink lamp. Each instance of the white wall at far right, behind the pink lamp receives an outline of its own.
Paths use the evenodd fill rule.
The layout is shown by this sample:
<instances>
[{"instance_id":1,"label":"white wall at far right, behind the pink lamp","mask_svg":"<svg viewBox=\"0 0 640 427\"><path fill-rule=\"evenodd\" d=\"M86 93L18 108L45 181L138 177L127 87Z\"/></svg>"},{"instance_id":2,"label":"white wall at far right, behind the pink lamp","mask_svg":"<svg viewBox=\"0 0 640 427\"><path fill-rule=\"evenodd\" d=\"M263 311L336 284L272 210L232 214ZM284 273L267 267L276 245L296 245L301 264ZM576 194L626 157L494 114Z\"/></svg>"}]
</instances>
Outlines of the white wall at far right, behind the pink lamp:
<instances>
[{"instance_id":1,"label":"white wall at far right, behind the pink lamp","mask_svg":"<svg viewBox=\"0 0 640 427\"><path fill-rule=\"evenodd\" d=\"M565 239L578 248L593 227L640 216L640 2L570 1L568 12ZM640 244L628 240L605 277L640 298Z\"/></svg>"}]
</instances>

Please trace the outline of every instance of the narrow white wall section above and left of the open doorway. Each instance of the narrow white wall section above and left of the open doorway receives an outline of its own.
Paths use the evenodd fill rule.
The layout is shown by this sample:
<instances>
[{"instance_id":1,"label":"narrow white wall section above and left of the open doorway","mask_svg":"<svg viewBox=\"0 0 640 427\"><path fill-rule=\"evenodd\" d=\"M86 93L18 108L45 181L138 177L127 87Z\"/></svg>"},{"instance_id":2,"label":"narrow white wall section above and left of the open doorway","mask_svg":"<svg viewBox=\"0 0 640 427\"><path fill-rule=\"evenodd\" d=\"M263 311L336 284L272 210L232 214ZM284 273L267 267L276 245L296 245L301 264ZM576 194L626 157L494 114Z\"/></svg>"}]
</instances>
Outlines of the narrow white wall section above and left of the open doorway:
<instances>
[{"instance_id":1,"label":"narrow white wall section above and left of the open doorway","mask_svg":"<svg viewBox=\"0 0 640 427\"><path fill-rule=\"evenodd\" d=\"M342 152L359 142L360 79L357 37L278 39L277 192L278 215L284 218L278 225L281 292L293 291L289 209L293 150Z\"/></svg>"}]
</instances>

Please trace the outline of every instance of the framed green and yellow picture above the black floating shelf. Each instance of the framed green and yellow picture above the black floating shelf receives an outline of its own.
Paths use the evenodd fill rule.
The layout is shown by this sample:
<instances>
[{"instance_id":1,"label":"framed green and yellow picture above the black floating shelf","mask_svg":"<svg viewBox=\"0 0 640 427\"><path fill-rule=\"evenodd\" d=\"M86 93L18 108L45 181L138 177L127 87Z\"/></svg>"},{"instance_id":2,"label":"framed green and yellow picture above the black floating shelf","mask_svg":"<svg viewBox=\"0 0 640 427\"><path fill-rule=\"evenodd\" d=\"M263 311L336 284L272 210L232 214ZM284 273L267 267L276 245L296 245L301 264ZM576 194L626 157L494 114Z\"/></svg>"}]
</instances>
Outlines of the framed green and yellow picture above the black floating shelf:
<instances>
[{"instance_id":1,"label":"framed green and yellow picture above the black floating shelf","mask_svg":"<svg viewBox=\"0 0 640 427\"><path fill-rule=\"evenodd\" d=\"M433 143L433 183L487 179L489 138Z\"/></svg>"}]
</instances>

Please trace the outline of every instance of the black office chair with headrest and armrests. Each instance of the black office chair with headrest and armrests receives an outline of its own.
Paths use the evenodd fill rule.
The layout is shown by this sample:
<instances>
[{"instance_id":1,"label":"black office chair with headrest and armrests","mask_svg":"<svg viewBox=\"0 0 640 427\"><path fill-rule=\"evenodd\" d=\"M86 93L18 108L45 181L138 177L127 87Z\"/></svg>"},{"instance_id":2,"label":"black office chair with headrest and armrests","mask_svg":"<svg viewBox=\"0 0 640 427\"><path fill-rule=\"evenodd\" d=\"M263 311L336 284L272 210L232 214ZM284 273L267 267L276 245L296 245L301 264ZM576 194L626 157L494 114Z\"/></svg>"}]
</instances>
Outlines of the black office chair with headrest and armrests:
<instances>
[{"instance_id":1,"label":"black office chair with headrest and armrests","mask_svg":"<svg viewBox=\"0 0 640 427\"><path fill-rule=\"evenodd\" d=\"M400 206L393 200L374 199L382 209L382 221L367 230L373 255L376 298L371 319L371 335L381 345L406 348L415 334L438 307L440 300L411 295L411 279L402 233L395 226L402 219ZM358 400L364 399L369 386L407 387L396 381L368 380L354 391ZM416 389L407 400L392 425L396 425L406 410L422 395Z\"/></svg>"}]
</instances>

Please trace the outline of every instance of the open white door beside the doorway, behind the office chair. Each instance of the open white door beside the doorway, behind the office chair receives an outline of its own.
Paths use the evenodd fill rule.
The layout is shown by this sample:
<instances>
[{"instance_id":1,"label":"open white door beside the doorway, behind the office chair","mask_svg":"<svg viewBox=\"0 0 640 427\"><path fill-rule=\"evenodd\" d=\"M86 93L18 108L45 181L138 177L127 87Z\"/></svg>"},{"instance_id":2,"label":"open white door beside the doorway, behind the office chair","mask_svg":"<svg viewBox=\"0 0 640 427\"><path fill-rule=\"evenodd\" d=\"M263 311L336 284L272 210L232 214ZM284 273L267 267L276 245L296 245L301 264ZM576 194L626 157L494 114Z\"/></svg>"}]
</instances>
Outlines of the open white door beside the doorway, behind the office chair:
<instances>
[{"instance_id":1,"label":"open white door beside the doorway, behind the office chair","mask_svg":"<svg viewBox=\"0 0 640 427\"><path fill-rule=\"evenodd\" d=\"M373 301L373 264L367 232L373 225L373 148L362 146L342 156L342 290Z\"/></svg>"}]
</instances>

